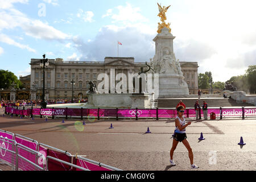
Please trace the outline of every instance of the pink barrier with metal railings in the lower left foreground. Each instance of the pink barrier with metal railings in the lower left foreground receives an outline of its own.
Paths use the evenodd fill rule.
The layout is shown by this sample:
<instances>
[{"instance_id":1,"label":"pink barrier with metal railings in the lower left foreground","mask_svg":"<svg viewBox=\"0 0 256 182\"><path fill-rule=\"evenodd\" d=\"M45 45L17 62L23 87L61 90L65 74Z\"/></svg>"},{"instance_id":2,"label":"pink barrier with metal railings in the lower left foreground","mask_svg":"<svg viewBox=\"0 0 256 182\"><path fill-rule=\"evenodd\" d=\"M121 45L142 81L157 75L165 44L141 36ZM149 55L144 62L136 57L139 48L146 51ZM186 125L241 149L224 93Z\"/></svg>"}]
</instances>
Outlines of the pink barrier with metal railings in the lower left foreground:
<instances>
[{"instance_id":1,"label":"pink barrier with metal railings in the lower left foreground","mask_svg":"<svg viewBox=\"0 0 256 182\"><path fill-rule=\"evenodd\" d=\"M0 171L120 171L36 140L0 130Z\"/></svg>"}]
</instances>

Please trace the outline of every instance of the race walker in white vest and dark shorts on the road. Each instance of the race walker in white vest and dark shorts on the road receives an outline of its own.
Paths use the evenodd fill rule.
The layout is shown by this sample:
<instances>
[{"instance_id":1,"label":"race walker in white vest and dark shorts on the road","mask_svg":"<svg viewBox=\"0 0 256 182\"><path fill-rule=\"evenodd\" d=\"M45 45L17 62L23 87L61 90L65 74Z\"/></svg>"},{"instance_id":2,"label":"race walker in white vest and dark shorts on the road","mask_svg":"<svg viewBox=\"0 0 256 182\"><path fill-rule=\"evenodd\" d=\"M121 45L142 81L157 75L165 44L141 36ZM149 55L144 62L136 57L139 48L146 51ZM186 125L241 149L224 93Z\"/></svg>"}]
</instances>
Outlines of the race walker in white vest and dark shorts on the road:
<instances>
[{"instance_id":1,"label":"race walker in white vest and dark shorts on the road","mask_svg":"<svg viewBox=\"0 0 256 182\"><path fill-rule=\"evenodd\" d=\"M184 114L184 107L183 106L179 106L177 107L177 117L175 118L175 134L174 134L174 140L172 142L172 148L170 151L170 163L172 166L176 166L174 160L172 159L172 156L174 155L174 150L177 147L177 144L179 142L182 142L184 144L184 146L187 148L188 150L188 157L190 159L190 163L191 163L191 168L192 169L198 169L199 167L196 166L196 164L193 163L193 152L192 152L192 148L189 146L188 140L187 140L187 135L186 135L186 130L185 128L188 125L191 125L191 122L188 122L187 124L185 123L185 117L183 116Z\"/></svg>"}]
</instances>

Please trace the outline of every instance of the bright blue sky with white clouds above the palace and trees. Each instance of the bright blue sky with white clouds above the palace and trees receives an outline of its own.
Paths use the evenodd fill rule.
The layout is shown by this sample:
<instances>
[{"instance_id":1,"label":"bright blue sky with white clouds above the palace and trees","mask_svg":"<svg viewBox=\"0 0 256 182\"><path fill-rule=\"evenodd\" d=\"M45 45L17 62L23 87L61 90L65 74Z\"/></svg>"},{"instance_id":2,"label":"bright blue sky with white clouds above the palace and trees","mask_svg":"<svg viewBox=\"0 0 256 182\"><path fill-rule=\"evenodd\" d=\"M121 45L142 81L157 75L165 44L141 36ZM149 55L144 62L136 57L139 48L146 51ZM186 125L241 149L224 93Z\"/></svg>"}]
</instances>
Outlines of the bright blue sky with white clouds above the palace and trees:
<instances>
[{"instance_id":1,"label":"bright blue sky with white clouds above the palace and trees","mask_svg":"<svg viewBox=\"0 0 256 182\"><path fill-rule=\"evenodd\" d=\"M0 69L30 74L30 59L104 61L106 56L154 56L158 6L171 5L174 51L199 72L226 81L256 63L256 2L0 0Z\"/></svg>"}]
</instances>

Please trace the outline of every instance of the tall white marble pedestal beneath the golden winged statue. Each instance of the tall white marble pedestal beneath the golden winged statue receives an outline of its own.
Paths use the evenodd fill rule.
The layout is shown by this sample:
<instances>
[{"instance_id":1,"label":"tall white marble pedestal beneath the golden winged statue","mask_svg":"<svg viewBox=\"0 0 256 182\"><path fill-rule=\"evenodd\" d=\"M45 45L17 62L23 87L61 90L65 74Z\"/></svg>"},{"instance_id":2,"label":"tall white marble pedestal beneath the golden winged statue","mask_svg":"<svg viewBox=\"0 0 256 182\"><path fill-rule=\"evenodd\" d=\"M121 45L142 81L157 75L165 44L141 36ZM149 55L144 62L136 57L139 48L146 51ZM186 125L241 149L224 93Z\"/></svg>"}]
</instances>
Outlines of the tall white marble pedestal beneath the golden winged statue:
<instances>
[{"instance_id":1,"label":"tall white marble pedestal beneath the golden winged statue","mask_svg":"<svg viewBox=\"0 0 256 182\"><path fill-rule=\"evenodd\" d=\"M174 39L175 36L166 27L162 28L162 31L153 39L155 56L150 65L156 73L159 73L158 98L187 96L189 94L179 60L176 60L174 54Z\"/></svg>"}]
</instances>

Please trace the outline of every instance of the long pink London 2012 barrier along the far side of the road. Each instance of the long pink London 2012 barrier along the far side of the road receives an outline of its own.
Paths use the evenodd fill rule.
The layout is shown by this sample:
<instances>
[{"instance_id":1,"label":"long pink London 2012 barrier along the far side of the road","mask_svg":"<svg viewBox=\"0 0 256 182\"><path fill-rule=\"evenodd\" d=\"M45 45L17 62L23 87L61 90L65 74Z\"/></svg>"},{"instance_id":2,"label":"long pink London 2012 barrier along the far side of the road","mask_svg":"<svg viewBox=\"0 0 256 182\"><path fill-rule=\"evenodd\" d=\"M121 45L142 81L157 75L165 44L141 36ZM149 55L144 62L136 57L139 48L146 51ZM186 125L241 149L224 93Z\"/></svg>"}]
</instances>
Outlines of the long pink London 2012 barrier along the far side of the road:
<instances>
[{"instance_id":1,"label":"long pink London 2012 barrier along the far side of the road","mask_svg":"<svg viewBox=\"0 0 256 182\"><path fill-rule=\"evenodd\" d=\"M200 116L203 115L203 110L200 110ZM208 109L208 117L210 117L211 113L216 115L216 118L225 118L225 117L256 117L256 107L250 108L209 108ZM28 108L28 109L16 109L15 107L5 107L5 114L16 114L16 115L27 115L33 117L34 115L38 115L41 118L44 116L47 117L81 117L83 118L175 118L177 116L176 109L86 109L86 108L56 108L52 107L51 109L40 109L40 108ZM195 109L185 109L184 115L187 118L195 118L196 111Z\"/></svg>"}]
</instances>

